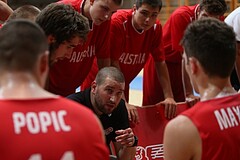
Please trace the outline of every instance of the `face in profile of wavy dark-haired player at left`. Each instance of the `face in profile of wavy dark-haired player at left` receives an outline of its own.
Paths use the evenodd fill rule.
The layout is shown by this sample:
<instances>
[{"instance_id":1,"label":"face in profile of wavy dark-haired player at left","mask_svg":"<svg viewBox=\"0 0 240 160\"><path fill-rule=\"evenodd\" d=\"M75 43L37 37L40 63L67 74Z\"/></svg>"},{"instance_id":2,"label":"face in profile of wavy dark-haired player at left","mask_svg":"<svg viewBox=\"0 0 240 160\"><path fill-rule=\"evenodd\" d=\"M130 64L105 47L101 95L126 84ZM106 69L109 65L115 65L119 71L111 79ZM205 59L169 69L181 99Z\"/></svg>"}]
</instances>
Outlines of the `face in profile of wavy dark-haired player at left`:
<instances>
[{"instance_id":1,"label":"face in profile of wavy dark-haired player at left","mask_svg":"<svg viewBox=\"0 0 240 160\"><path fill-rule=\"evenodd\" d=\"M74 37L70 41L63 41L52 54L51 62L54 63L64 58L71 58L73 49L83 42L84 40L80 37Z\"/></svg>"}]
</instances>

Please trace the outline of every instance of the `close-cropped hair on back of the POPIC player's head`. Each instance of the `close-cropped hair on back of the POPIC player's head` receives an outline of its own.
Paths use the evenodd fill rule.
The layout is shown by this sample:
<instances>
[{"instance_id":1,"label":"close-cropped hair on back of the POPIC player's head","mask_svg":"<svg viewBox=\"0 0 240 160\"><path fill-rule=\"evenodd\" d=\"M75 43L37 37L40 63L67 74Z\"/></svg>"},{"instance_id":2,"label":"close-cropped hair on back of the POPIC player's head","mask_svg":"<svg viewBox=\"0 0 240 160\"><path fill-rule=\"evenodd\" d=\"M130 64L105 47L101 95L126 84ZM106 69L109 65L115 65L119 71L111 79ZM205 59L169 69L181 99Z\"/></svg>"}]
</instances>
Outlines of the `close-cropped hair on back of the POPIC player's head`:
<instances>
[{"instance_id":1,"label":"close-cropped hair on back of the POPIC player's head","mask_svg":"<svg viewBox=\"0 0 240 160\"><path fill-rule=\"evenodd\" d=\"M0 30L0 39L2 71L32 72L39 55L48 50L44 32L29 20L18 19L6 23Z\"/></svg>"}]
</instances>

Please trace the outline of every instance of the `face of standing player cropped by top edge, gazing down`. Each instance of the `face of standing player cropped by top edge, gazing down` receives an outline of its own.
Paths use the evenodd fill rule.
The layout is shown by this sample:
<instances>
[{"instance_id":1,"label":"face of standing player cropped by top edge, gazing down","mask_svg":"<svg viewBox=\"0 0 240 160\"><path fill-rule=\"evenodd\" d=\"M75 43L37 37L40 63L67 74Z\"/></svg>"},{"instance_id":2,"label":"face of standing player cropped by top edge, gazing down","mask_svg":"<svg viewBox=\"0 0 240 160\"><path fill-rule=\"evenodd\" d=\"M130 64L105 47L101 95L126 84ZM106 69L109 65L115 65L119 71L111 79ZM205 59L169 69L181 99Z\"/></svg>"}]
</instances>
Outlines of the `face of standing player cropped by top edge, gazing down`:
<instances>
[{"instance_id":1,"label":"face of standing player cropped by top edge, gazing down","mask_svg":"<svg viewBox=\"0 0 240 160\"><path fill-rule=\"evenodd\" d=\"M90 7L90 15L93 23L100 25L109 20L119 7L113 0L95 0Z\"/></svg>"}]
</instances>

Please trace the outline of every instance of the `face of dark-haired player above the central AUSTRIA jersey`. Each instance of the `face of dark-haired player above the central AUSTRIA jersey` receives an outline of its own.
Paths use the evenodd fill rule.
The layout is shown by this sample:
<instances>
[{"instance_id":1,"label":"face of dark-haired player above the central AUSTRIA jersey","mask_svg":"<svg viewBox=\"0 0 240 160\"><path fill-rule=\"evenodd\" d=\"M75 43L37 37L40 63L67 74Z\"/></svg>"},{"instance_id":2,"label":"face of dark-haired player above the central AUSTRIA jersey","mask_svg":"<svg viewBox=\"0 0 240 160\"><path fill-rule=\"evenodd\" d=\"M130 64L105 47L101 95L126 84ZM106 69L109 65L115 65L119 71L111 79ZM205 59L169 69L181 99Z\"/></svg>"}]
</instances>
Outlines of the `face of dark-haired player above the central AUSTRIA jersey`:
<instances>
[{"instance_id":1,"label":"face of dark-haired player above the central AUSTRIA jersey","mask_svg":"<svg viewBox=\"0 0 240 160\"><path fill-rule=\"evenodd\" d=\"M133 14L133 24L137 30L150 29L157 20L159 8L153 8L148 4L142 4L141 7L135 9Z\"/></svg>"}]
</instances>

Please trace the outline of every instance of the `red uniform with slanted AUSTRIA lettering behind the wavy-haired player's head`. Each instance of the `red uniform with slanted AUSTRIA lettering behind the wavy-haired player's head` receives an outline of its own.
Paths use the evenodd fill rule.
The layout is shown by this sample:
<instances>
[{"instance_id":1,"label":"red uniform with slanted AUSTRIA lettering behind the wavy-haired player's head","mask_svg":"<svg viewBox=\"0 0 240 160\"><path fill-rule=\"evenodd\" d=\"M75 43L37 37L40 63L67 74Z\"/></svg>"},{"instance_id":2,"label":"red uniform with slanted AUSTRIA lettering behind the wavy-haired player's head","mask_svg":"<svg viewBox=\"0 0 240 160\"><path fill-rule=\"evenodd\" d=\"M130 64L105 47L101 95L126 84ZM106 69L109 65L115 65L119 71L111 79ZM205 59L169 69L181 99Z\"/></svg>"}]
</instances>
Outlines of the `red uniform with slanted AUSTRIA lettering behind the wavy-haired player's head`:
<instances>
[{"instance_id":1,"label":"red uniform with slanted AUSTRIA lettering behind the wavy-haired player's head","mask_svg":"<svg viewBox=\"0 0 240 160\"><path fill-rule=\"evenodd\" d=\"M75 10L82 13L82 0L63 0L60 3L71 4ZM70 59L65 58L53 64L49 72L50 92L62 96L74 93L91 70L94 58L110 57L109 30L109 20L101 25L93 24L84 45L74 48Z\"/></svg>"}]
</instances>

